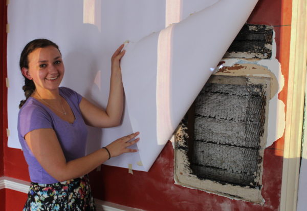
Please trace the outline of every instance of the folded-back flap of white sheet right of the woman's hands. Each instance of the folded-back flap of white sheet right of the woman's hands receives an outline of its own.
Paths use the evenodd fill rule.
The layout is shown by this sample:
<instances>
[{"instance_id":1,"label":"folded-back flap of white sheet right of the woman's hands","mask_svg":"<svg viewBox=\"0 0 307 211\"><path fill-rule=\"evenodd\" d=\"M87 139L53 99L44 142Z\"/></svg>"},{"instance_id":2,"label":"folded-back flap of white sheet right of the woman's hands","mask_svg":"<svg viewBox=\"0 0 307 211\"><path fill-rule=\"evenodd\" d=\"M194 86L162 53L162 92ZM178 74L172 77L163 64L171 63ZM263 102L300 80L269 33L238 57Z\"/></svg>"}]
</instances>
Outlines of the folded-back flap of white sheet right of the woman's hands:
<instances>
[{"instance_id":1,"label":"folded-back flap of white sheet right of the woman's hands","mask_svg":"<svg viewBox=\"0 0 307 211\"><path fill-rule=\"evenodd\" d=\"M123 83L131 126L142 132L138 148L146 171L256 3L220 0L126 47Z\"/></svg>"}]
</instances>

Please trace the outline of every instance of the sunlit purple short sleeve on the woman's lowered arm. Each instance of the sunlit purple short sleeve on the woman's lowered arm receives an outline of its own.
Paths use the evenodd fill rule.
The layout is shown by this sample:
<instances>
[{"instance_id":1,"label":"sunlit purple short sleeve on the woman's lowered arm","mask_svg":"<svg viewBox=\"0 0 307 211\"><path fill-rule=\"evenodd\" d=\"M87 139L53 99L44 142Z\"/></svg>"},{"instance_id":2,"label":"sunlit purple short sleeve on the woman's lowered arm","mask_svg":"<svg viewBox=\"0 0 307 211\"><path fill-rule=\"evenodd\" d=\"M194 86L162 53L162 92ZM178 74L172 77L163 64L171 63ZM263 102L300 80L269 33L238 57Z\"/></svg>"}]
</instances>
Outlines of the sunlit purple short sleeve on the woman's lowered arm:
<instances>
[{"instance_id":1,"label":"sunlit purple short sleeve on the woman's lowered arm","mask_svg":"<svg viewBox=\"0 0 307 211\"><path fill-rule=\"evenodd\" d=\"M19 133L21 137L33 130L53 128L51 116L40 106L27 104L19 112Z\"/></svg>"}]
</instances>

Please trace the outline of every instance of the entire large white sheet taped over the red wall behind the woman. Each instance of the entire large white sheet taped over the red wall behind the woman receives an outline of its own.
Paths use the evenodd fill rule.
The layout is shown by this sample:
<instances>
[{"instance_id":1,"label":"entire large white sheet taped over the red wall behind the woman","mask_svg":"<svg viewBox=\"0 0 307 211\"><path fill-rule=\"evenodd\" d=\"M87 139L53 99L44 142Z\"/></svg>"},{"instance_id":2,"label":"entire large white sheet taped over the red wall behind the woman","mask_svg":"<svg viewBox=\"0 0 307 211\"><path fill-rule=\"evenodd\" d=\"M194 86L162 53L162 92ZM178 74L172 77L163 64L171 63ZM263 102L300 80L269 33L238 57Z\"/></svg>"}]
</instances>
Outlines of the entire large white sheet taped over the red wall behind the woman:
<instances>
[{"instance_id":1,"label":"entire large white sheet taped over the red wall behind the woman","mask_svg":"<svg viewBox=\"0 0 307 211\"><path fill-rule=\"evenodd\" d=\"M110 58L121 43L130 40L121 61L126 97L122 124L102 130L89 127L87 152L140 131L141 141L134 146L139 153L124 154L105 164L125 168L132 164L134 170L148 171L205 85L212 73L210 68L216 67L256 3L257 0L11 1L8 145L20 149L17 113L24 94L18 59L28 41L41 37L55 41L65 64L61 86L105 107Z\"/></svg>"}]
</instances>

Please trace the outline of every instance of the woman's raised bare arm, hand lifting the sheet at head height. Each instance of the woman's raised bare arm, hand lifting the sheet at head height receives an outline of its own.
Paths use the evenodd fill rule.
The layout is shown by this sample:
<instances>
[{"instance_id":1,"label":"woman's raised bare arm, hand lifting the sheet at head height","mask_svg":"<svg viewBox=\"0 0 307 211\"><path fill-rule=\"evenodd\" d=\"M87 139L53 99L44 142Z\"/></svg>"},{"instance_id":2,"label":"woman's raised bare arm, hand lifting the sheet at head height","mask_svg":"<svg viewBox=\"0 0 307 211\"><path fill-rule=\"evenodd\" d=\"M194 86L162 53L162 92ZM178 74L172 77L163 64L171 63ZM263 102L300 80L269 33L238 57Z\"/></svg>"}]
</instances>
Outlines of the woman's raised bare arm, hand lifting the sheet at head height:
<instances>
[{"instance_id":1,"label":"woman's raised bare arm, hand lifting the sheet at head height","mask_svg":"<svg viewBox=\"0 0 307 211\"><path fill-rule=\"evenodd\" d=\"M125 54L121 45L112 56L111 81L109 98L106 110L94 106L91 102L82 98L79 107L86 124L99 127L109 128L118 126L123 113L124 90L120 69L120 59Z\"/></svg>"}]
</instances>

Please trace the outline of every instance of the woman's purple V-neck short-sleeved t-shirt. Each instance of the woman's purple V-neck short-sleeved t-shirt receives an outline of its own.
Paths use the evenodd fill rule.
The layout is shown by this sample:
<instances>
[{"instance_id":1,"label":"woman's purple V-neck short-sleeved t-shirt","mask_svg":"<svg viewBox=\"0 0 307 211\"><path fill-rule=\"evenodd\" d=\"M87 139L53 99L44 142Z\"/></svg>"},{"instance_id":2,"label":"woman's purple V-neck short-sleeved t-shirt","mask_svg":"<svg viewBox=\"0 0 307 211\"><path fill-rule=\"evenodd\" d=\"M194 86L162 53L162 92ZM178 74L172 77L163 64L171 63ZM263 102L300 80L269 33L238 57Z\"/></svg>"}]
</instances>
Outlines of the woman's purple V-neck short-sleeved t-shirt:
<instances>
[{"instance_id":1,"label":"woman's purple V-neck short-sleeved t-shirt","mask_svg":"<svg viewBox=\"0 0 307 211\"><path fill-rule=\"evenodd\" d=\"M62 147L66 161L71 161L85 155L87 129L79 108L82 96L65 87L59 88L59 94L68 102L75 115L73 123L62 120L33 97L29 97L24 106L19 110L18 137L29 165L29 174L32 182L50 184L59 181L51 177L38 163L24 139L27 133L36 129L52 128Z\"/></svg>"}]
</instances>

